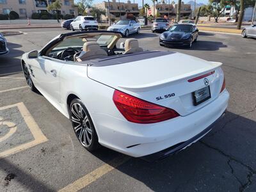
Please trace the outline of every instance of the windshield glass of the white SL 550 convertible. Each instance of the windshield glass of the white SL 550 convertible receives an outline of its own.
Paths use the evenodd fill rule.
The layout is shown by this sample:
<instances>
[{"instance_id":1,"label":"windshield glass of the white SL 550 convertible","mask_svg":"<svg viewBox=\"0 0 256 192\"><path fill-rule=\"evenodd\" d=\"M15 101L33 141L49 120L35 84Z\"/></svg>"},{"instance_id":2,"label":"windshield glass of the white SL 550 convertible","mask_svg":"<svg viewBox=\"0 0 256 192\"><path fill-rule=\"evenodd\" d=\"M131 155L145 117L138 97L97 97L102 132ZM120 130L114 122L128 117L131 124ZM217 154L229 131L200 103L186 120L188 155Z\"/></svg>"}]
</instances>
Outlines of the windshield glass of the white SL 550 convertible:
<instances>
[{"instance_id":1,"label":"windshield glass of the white SL 550 convertible","mask_svg":"<svg viewBox=\"0 0 256 192\"><path fill-rule=\"evenodd\" d=\"M106 47L112 42L114 37L115 35L96 35L89 38L83 36L66 38L60 44L54 47L52 51L66 49L67 47L83 47L85 42L97 42L100 47Z\"/></svg>"}]
</instances>

